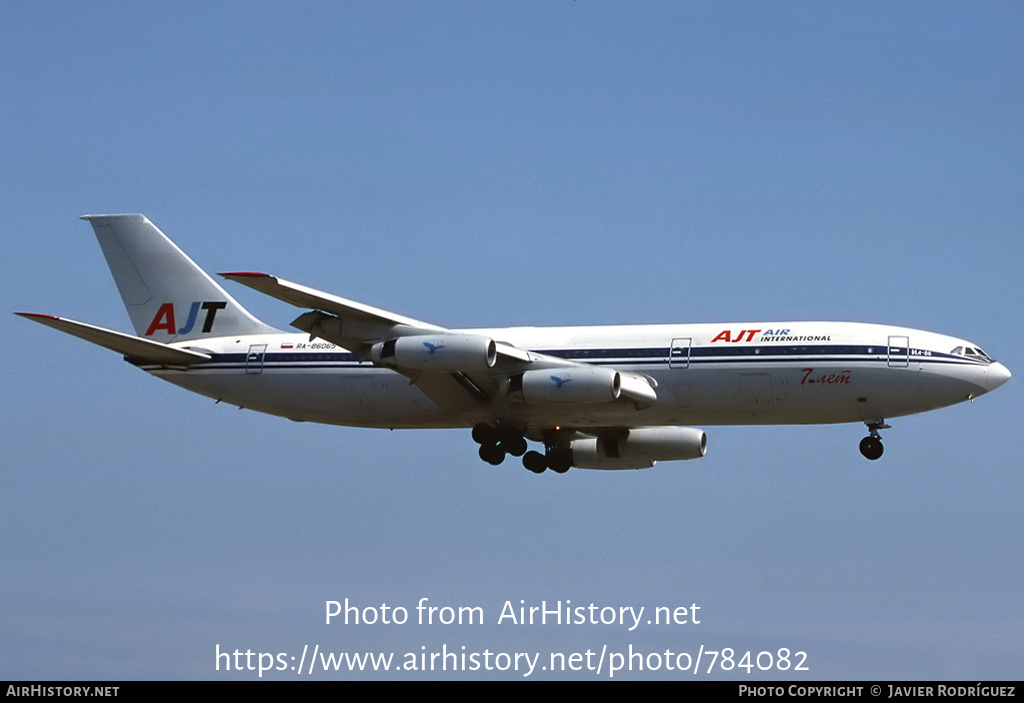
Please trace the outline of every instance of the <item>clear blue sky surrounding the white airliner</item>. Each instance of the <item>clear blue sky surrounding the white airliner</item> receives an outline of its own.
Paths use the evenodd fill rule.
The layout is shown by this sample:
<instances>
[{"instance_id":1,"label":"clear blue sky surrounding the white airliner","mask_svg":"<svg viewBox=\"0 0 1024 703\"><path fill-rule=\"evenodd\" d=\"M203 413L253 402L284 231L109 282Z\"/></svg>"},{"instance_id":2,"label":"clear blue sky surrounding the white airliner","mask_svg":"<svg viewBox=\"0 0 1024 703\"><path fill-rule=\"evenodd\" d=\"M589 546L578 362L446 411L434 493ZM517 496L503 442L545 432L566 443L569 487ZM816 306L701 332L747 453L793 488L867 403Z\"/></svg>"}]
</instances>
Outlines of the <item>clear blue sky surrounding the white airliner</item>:
<instances>
[{"instance_id":1,"label":"clear blue sky surrounding the white airliner","mask_svg":"<svg viewBox=\"0 0 1024 703\"><path fill-rule=\"evenodd\" d=\"M128 329L77 218L142 212L207 270L447 326L878 321L1019 375L1022 14L7 3L0 290L9 311ZM784 647L813 679L1019 675L1017 379L894 421L878 463L862 427L709 428L699 462L538 477L482 464L465 431L295 425L0 328L6 677L244 678L217 645L306 644ZM324 624L327 600L424 597L488 622ZM703 619L492 623L520 600Z\"/></svg>"}]
</instances>

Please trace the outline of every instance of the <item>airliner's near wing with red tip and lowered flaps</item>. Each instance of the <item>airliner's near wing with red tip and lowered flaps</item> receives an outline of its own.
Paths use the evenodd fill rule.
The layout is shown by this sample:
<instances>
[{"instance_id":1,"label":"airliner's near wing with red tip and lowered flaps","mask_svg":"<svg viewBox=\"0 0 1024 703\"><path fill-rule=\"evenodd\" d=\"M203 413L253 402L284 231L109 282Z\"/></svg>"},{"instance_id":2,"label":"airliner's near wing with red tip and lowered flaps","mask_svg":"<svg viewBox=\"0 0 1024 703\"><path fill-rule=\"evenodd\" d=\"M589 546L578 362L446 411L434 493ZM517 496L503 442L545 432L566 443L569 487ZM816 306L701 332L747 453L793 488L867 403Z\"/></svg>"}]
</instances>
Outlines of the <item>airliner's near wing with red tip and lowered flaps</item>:
<instances>
[{"instance_id":1,"label":"airliner's near wing with red tip and lowered flaps","mask_svg":"<svg viewBox=\"0 0 1024 703\"><path fill-rule=\"evenodd\" d=\"M588 364L519 349L500 340L484 340L440 327L267 273L236 271L220 275L297 307L312 308L295 318L292 326L309 333L311 338L319 337L375 363L394 368L434 402L450 410L468 409L474 404L486 402L503 380L517 374L593 368ZM402 338L422 339L413 341ZM408 364L397 360L401 353L396 349L399 345L411 358ZM469 359L468 350L478 345L483 345L478 358L486 357L486 363L467 360L465 366L431 366L430 355L434 349L451 347L450 351L454 351L462 348L467 350ZM394 359L394 362L382 360L385 356ZM634 400L638 407L654 403L656 393L645 377L630 371L617 372L624 396Z\"/></svg>"}]
</instances>

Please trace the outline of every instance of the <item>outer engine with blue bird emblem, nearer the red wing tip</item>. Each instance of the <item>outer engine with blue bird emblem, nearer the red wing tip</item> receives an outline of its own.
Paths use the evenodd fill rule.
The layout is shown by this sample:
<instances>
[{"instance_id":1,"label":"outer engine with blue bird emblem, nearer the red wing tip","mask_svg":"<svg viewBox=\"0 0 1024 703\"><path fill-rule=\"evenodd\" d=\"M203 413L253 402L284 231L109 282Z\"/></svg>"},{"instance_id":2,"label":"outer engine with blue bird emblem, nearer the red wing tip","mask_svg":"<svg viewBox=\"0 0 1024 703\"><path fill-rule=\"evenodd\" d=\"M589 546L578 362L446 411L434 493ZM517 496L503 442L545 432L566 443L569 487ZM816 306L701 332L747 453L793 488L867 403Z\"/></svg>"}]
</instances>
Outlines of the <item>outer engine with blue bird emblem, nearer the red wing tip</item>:
<instances>
[{"instance_id":1,"label":"outer engine with blue bird emblem, nearer the red wing tip","mask_svg":"<svg viewBox=\"0 0 1024 703\"><path fill-rule=\"evenodd\" d=\"M378 342L374 363L408 371L482 371L498 360L495 341L476 335L416 335Z\"/></svg>"}]
</instances>

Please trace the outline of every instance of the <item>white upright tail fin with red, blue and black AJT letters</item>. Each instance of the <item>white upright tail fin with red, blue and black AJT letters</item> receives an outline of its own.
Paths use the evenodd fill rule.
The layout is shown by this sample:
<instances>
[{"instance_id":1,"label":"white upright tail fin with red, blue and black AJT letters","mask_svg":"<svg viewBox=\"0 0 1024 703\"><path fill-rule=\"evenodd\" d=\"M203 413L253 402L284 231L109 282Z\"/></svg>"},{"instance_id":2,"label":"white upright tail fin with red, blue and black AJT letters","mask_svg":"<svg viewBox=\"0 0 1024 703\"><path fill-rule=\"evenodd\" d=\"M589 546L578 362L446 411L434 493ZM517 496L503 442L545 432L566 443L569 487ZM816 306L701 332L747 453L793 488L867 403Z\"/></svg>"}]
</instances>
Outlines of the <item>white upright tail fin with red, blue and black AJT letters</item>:
<instances>
[{"instance_id":1,"label":"white upright tail fin with red, blue and black AJT letters","mask_svg":"<svg viewBox=\"0 0 1024 703\"><path fill-rule=\"evenodd\" d=\"M156 342L271 328L227 295L143 215L83 215L96 232L135 334Z\"/></svg>"}]
</instances>

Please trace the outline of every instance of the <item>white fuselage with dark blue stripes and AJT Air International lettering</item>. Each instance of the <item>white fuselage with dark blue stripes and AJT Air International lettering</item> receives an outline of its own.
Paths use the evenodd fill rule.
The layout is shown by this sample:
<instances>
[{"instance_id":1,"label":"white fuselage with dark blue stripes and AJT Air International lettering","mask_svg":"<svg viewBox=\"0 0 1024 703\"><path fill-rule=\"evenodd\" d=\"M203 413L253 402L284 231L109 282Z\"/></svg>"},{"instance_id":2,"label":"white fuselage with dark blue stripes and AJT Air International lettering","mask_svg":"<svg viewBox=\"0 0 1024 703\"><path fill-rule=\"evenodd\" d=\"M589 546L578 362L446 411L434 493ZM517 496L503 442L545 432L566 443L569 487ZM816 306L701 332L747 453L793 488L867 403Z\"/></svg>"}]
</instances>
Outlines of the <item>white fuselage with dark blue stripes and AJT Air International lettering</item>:
<instances>
[{"instance_id":1,"label":"white fuselage with dark blue stripes and AJT Air International lettering","mask_svg":"<svg viewBox=\"0 0 1024 703\"><path fill-rule=\"evenodd\" d=\"M453 412L410 379L304 334L204 339L187 369L143 365L203 395L295 421L377 428L795 425L871 422L951 405L1009 371L944 335L859 322L463 329L518 349L647 377L657 400L526 404L506 393Z\"/></svg>"}]
</instances>

